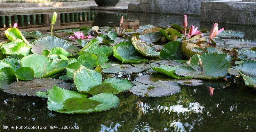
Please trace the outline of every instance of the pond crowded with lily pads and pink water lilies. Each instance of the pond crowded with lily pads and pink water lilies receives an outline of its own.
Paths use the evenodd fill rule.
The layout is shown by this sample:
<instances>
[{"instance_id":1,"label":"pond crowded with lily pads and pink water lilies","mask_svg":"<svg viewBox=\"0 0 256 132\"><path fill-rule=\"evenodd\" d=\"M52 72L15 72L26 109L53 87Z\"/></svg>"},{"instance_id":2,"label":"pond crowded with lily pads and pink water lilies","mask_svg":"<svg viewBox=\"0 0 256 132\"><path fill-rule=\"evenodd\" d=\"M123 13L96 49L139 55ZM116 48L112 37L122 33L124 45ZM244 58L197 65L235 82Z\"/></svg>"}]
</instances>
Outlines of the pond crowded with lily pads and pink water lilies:
<instances>
[{"instance_id":1,"label":"pond crowded with lily pads and pink water lilies","mask_svg":"<svg viewBox=\"0 0 256 132\"><path fill-rule=\"evenodd\" d=\"M187 16L164 26L134 26L126 17L97 24L96 16L91 26L55 30L53 15L52 31L6 28L0 130L255 131L250 33L199 28Z\"/></svg>"}]
</instances>

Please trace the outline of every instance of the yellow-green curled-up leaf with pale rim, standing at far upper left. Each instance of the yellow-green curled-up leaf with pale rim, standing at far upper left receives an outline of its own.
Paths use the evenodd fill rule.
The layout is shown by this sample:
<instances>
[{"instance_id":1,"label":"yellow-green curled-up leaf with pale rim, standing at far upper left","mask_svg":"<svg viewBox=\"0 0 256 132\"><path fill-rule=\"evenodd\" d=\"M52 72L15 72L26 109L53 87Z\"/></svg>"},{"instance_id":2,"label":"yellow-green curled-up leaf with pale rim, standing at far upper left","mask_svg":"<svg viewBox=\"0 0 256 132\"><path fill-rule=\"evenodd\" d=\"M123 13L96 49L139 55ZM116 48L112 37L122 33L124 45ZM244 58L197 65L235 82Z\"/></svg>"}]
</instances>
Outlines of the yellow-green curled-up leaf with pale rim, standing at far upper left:
<instances>
[{"instance_id":1,"label":"yellow-green curled-up leaf with pale rim, standing at far upper left","mask_svg":"<svg viewBox=\"0 0 256 132\"><path fill-rule=\"evenodd\" d=\"M20 40L23 40L24 43L29 45L28 41L25 39L25 37L22 35L22 33L18 28L15 28L15 27L8 28L4 31L4 33L10 41L15 41L16 39L20 39Z\"/></svg>"}]
</instances>

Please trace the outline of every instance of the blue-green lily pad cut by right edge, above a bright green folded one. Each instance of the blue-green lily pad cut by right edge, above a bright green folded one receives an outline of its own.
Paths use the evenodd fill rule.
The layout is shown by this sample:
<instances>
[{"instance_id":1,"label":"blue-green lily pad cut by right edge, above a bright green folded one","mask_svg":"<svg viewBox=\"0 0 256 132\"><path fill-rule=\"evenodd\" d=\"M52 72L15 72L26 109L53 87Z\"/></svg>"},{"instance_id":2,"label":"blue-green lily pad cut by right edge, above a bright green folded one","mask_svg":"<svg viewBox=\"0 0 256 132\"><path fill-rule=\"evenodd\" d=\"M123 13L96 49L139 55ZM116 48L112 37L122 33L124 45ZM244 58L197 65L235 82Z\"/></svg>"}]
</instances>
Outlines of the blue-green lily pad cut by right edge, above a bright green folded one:
<instances>
[{"instance_id":1,"label":"blue-green lily pad cut by right edge, above a bright green folded one","mask_svg":"<svg viewBox=\"0 0 256 132\"><path fill-rule=\"evenodd\" d=\"M247 76L256 76L256 61L245 61L242 64L233 68L239 70Z\"/></svg>"}]
</instances>

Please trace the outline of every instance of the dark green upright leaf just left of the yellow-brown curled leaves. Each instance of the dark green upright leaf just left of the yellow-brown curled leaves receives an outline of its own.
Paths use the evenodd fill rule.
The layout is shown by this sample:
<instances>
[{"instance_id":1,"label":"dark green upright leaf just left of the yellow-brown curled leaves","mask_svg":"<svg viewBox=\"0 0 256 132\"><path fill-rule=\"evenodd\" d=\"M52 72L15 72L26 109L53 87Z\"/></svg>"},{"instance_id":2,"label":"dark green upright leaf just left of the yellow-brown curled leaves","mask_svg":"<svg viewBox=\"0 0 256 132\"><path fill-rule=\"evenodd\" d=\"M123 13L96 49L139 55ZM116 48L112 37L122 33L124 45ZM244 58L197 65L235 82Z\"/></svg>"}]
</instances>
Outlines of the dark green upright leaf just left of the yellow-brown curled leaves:
<instances>
[{"instance_id":1,"label":"dark green upright leaf just left of the yellow-brown curled leaves","mask_svg":"<svg viewBox=\"0 0 256 132\"><path fill-rule=\"evenodd\" d=\"M170 58L170 59L181 59L181 42L180 41L171 41L164 45L160 51L161 58Z\"/></svg>"}]
</instances>

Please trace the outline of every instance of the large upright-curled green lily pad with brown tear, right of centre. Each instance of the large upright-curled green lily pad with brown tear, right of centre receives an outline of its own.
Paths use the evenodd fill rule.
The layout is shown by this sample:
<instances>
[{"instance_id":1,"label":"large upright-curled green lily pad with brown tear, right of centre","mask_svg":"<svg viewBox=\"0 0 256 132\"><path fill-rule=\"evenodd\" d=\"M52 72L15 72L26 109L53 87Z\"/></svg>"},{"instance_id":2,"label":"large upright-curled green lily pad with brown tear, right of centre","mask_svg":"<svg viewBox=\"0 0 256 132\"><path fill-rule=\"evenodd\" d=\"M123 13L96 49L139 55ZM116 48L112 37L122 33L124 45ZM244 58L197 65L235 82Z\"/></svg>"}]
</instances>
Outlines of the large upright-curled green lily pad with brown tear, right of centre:
<instances>
[{"instance_id":1,"label":"large upright-curled green lily pad with brown tear, right of centre","mask_svg":"<svg viewBox=\"0 0 256 132\"><path fill-rule=\"evenodd\" d=\"M230 63L216 53L193 55L187 62L188 66L175 71L179 76L200 79L219 79L226 77L231 67Z\"/></svg>"}]
</instances>

